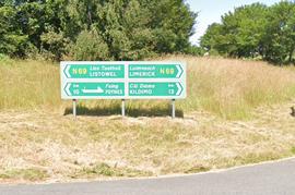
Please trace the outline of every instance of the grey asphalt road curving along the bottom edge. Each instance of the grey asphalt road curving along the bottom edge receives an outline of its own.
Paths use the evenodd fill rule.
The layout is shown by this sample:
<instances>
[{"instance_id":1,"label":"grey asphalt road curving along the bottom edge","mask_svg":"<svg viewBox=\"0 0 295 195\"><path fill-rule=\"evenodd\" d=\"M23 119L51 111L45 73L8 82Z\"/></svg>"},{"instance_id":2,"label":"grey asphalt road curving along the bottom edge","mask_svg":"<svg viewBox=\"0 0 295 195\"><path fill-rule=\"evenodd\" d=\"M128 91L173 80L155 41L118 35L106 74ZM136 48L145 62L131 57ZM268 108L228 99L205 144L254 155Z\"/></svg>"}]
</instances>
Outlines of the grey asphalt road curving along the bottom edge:
<instances>
[{"instance_id":1,"label":"grey asphalt road curving along the bottom edge","mask_svg":"<svg viewBox=\"0 0 295 195\"><path fill-rule=\"evenodd\" d=\"M0 185L0 195L295 195L295 159L178 178Z\"/></svg>"}]
</instances>

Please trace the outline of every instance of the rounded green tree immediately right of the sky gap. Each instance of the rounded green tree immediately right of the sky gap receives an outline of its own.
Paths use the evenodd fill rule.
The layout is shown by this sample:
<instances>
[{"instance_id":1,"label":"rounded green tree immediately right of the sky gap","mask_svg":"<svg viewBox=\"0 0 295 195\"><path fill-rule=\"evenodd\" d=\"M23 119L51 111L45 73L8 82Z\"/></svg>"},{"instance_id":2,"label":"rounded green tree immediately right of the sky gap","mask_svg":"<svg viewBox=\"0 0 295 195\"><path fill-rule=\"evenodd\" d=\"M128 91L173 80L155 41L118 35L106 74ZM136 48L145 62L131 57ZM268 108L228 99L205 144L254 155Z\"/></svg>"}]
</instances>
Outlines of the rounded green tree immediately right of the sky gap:
<instances>
[{"instance_id":1,"label":"rounded green tree immediately right of the sky gap","mask_svg":"<svg viewBox=\"0 0 295 195\"><path fill-rule=\"evenodd\" d=\"M260 3L244 5L222 16L222 24L209 26L201 46L229 57L256 57L262 52L268 8Z\"/></svg>"}]
</instances>

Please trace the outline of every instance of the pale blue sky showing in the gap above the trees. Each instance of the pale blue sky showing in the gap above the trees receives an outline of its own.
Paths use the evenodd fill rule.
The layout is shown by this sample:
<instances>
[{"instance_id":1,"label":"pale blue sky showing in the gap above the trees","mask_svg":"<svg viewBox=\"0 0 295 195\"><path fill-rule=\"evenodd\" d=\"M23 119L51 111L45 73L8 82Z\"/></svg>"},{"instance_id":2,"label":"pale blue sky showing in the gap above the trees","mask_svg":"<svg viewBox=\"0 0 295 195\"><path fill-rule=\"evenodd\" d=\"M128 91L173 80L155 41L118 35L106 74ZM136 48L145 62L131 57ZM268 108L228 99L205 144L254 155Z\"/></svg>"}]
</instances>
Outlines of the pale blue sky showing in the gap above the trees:
<instances>
[{"instance_id":1,"label":"pale blue sky showing in the gap above the trees","mask_svg":"<svg viewBox=\"0 0 295 195\"><path fill-rule=\"evenodd\" d=\"M224 13L233 11L234 8L251 4L253 2L261 2L270 5L280 2L280 0L187 0L187 3L189 3L192 11L199 12L196 34L191 37L191 41L198 44L198 39L204 34L208 25L220 22L221 16Z\"/></svg>"}]
</instances>

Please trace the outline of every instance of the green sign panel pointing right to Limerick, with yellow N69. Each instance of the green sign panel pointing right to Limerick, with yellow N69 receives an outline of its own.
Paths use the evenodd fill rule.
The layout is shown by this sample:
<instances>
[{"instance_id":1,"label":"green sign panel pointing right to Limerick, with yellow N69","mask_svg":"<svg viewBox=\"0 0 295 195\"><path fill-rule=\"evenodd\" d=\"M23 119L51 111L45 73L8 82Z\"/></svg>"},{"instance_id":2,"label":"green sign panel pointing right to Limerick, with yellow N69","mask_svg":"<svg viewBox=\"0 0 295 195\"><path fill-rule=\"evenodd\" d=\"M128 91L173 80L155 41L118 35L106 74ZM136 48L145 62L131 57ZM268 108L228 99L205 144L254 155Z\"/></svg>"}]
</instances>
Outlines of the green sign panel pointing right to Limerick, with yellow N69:
<instances>
[{"instance_id":1,"label":"green sign panel pointing right to Limerick, with yellow N69","mask_svg":"<svg viewBox=\"0 0 295 195\"><path fill-rule=\"evenodd\" d=\"M180 64L130 64L129 78L180 78Z\"/></svg>"}]
</instances>

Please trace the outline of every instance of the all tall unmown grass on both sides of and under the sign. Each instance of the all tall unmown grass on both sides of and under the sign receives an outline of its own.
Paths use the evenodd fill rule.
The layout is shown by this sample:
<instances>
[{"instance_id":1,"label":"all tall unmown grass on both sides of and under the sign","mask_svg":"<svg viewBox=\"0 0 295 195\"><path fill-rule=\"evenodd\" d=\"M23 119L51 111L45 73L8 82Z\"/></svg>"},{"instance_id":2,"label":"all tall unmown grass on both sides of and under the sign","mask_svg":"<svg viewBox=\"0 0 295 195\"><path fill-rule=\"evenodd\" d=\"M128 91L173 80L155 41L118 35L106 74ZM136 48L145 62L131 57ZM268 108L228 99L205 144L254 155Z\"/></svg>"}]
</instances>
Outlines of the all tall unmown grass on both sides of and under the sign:
<instances>
[{"instance_id":1,"label":"all tall unmown grass on both sides of and under the sign","mask_svg":"<svg viewBox=\"0 0 295 195\"><path fill-rule=\"evenodd\" d=\"M188 98L177 101L184 112L205 110L225 119L247 119L262 105L280 103L295 95L295 71L264 62L170 56L156 60L188 63ZM0 61L0 109L59 108L59 66L42 61ZM83 101L86 107L118 107L115 100ZM165 110L168 101L129 101L128 109Z\"/></svg>"}]
</instances>

